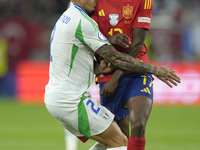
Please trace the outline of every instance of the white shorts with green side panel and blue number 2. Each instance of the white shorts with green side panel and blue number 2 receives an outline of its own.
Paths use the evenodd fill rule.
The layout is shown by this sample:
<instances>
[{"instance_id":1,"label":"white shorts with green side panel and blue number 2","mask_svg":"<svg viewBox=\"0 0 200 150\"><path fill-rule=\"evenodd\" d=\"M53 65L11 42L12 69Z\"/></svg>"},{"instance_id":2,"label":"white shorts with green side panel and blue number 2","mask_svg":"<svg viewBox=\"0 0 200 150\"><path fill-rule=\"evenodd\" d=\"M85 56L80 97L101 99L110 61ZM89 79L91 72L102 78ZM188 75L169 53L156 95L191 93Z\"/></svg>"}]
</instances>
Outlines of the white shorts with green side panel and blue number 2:
<instances>
[{"instance_id":1,"label":"white shorts with green side panel and blue number 2","mask_svg":"<svg viewBox=\"0 0 200 150\"><path fill-rule=\"evenodd\" d=\"M46 107L54 118L78 137L90 138L98 135L105 131L114 119L114 114L91 96L83 96L78 106L74 108L48 104Z\"/></svg>"}]
</instances>

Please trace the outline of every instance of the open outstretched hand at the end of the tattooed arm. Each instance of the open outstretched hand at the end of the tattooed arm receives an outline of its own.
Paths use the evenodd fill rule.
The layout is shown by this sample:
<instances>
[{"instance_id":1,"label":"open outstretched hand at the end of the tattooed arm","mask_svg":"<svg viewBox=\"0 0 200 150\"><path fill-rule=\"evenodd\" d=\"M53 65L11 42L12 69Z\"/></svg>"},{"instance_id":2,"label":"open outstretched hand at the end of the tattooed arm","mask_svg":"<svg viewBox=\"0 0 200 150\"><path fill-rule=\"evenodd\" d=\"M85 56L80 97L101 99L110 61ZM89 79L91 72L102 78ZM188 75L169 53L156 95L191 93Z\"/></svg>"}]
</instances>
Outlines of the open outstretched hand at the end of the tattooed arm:
<instances>
[{"instance_id":1,"label":"open outstretched hand at the end of the tattooed arm","mask_svg":"<svg viewBox=\"0 0 200 150\"><path fill-rule=\"evenodd\" d=\"M175 74L175 72L175 70L167 66L159 66L155 76L172 88L173 85L177 86L177 83L181 83L181 79Z\"/></svg>"}]
</instances>

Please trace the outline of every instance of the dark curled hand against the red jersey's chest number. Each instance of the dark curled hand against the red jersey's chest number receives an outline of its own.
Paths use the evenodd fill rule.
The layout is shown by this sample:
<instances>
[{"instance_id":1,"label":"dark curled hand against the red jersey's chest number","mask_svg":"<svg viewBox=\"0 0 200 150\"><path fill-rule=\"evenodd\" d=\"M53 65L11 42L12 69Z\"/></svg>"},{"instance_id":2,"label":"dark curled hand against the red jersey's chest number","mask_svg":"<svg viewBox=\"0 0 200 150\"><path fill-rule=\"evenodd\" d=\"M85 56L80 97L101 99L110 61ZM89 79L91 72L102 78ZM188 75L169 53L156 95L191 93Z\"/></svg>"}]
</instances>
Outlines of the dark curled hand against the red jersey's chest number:
<instances>
[{"instance_id":1,"label":"dark curled hand against the red jersey's chest number","mask_svg":"<svg viewBox=\"0 0 200 150\"><path fill-rule=\"evenodd\" d=\"M129 37L123 33L118 33L116 35L108 36L107 39L111 44L117 44L124 48L128 48L129 45L131 44Z\"/></svg>"}]
</instances>

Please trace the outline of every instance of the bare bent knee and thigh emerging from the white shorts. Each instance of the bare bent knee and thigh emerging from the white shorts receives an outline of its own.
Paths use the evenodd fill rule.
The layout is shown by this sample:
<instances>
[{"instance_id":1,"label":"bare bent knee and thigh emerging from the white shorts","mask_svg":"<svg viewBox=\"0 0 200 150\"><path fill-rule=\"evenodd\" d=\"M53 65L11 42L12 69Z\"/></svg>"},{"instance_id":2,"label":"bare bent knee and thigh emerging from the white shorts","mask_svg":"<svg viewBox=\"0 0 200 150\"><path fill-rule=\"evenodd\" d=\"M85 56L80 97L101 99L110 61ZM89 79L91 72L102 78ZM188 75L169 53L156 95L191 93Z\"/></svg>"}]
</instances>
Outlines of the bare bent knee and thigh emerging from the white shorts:
<instances>
[{"instance_id":1,"label":"bare bent knee and thigh emerging from the white shorts","mask_svg":"<svg viewBox=\"0 0 200 150\"><path fill-rule=\"evenodd\" d=\"M115 121L101 134L94 135L91 139L102 143L107 148L127 146L127 138Z\"/></svg>"}]
</instances>

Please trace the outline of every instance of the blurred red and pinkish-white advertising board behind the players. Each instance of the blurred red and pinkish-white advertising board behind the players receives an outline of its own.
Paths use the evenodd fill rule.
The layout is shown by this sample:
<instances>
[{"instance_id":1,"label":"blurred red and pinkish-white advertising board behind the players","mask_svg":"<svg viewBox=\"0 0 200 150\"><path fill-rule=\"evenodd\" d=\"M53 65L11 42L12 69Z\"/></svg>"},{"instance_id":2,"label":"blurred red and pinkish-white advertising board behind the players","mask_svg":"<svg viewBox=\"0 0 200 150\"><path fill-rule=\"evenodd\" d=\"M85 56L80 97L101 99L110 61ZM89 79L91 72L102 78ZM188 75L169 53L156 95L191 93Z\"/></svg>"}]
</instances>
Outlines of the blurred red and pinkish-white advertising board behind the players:
<instances>
[{"instance_id":1,"label":"blurred red and pinkish-white advertising board behind the players","mask_svg":"<svg viewBox=\"0 0 200 150\"><path fill-rule=\"evenodd\" d=\"M158 64L158 63L154 63ZM200 63L165 63L181 78L173 88L154 77L155 105L200 105ZM16 72L16 97L22 103L44 103L45 85L48 83L49 62L23 61ZM90 87L92 97L99 101L98 85Z\"/></svg>"}]
</instances>

